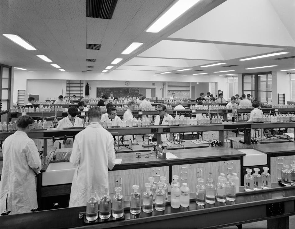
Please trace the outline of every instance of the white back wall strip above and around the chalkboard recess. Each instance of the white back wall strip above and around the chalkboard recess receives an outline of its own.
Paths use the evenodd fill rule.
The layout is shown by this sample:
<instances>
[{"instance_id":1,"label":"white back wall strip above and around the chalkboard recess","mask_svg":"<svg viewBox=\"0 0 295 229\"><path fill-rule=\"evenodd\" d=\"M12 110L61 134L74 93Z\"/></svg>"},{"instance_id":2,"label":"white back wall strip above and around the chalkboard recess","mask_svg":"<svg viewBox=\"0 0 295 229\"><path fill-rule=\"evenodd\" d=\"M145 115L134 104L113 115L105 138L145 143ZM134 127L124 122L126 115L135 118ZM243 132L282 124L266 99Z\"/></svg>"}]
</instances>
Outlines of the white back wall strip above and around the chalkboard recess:
<instances>
[{"instance_id":1,"label":"white back wall strip above and around the chalkboard recess","mask_svg":"<svg viewBox=\"0 0 295 229\"><path fill-rule=\"evenodd\" d=\"M39 79L39 80L54 80L54 85L56 85L57 89L54 90L54 94L61 91L58 89L59 81L56 80L85 80L85 82L89 83L91 95L93 93L96 94L96 85L99 87L108 86L112 87L116 85L119 87L123 87L121 85L124 81L130 81L130 85L128 87L153 87L152 83L155 83L156 94L160 97L162 92L159 90L160 87L163 87L163 82L217 82L218 89L221 89L226 93L226 78L218 77L218 76L193 76L193 75L185 75L179 76L175 74L157 74L157 72L153 71L128 71L128 70L113 70L110 73L92 73L92 72L61 72L61 71L22 71L15 70L14 71L14 90L13 90L13 101L17 101L18 90L27 89L27 80L28 79ZM117 82L116 82L117 81ZM120 81L120 82L118 82ZM140 81L140 82L139 82ZM31 81L28 81L29 84ZM93 85L93 86L92 86ZM166 85L166 83L165 83ZM35 84L35 86L37 86ZM46 85L42 85L41 88L45 88ZM31 85L29 85L31 88ZM52 88L52 87L51 87ZM166 91L167 89L164 88ZM95 91L95 92L93 92ZM33 93L33 92L29 92ZM224 93L224 97L227 95ZM45 93L43 93L45 94ZM57 96L60 93L57 93ZM41 94L40 94L41 96ZM45 98L49 97L44 95ZM91 96L89 96L91 97Z\"/></svg>"}]
</instances>

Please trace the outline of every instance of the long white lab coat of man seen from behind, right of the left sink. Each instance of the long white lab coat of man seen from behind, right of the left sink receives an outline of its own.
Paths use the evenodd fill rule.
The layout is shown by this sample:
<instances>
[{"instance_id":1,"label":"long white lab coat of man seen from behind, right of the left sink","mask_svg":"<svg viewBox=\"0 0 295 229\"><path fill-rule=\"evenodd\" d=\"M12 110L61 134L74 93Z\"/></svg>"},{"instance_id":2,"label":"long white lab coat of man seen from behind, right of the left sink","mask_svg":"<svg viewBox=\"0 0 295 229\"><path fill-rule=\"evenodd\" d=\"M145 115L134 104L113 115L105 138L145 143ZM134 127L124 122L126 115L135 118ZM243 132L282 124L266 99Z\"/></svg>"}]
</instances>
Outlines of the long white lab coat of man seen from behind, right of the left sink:
<instances>
[{"instance_id":1,"label":"long white lab coat of man seen from behind, right of the left sink","mask_svg":"<svg viewBox=\"0 0 295 229\"><path fill-rule=\"evenodd\" d=\"M90 190L101 197L101 191L108 188L108 168L115 165L113 136L98 122L90 123L76 135L70 162L77 168L69 207L86 206Z\"/></svg>"}]
</instances>

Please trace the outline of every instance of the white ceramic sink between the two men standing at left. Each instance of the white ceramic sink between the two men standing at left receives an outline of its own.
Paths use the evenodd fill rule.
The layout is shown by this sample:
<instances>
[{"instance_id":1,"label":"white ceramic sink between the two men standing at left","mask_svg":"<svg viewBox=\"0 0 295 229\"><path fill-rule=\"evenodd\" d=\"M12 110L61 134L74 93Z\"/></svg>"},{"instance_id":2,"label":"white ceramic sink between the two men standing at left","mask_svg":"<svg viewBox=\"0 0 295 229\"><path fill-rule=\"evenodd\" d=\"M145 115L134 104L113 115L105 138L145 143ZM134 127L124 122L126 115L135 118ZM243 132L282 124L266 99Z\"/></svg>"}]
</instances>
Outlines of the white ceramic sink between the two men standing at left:
<instances>
[{"instance_id":1,"label":"white ceramic sink between the two men standing at left","mask_svg":"<svg viewBox=\"0 0 295 229\"><path fill-rule=\"evenodd\" d=\"M42 185L72 183L75 169L76 165L71 162L50 163L42 174Z\"/></svg>"}]
</instances>

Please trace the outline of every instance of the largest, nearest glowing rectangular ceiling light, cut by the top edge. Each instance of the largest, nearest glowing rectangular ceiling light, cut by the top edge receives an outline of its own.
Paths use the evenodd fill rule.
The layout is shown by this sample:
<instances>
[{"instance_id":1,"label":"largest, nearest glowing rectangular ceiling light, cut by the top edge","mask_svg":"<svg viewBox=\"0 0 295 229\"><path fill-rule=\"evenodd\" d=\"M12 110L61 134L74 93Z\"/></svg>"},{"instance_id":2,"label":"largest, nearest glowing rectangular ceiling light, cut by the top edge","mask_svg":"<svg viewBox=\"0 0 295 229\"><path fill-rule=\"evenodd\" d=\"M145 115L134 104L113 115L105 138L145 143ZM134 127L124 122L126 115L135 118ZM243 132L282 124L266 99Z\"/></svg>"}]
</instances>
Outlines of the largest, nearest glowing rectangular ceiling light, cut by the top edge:
<instances>
[{"instance_id":1,"label":"largest, nearest glowing rectangular ceiling light, cut by the top edge","mask_svg":"<svg viewBox=\"0 0 295 229\"><path fill-rule=\"evenodd\" d=\"M199 0L179 0L170 7L157 21L155 21L146 31L158 33L188 9L194 6Z\"/></svg>"}]
</instances>

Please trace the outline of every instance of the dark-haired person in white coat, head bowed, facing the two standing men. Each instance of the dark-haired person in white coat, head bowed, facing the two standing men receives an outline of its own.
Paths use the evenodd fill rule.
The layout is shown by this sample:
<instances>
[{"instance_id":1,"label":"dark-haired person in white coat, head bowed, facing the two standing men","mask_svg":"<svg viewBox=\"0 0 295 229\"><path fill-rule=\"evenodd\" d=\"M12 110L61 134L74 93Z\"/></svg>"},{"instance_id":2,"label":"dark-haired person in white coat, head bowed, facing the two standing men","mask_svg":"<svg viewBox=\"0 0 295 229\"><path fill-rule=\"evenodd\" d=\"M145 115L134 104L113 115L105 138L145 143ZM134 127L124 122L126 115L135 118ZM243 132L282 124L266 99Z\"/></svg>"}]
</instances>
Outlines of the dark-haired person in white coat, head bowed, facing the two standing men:
<instances>
[{"instance_id":1,"label":"dark-haired person in white coat, head bowed, facing the two standing men","mask_svg":"<svg viewBox=\"0 0 295 229\"><path fill-rule=\"evenodd\" d=\"M77 117L77 107L69 107L68 116L59 120L57 128L83 127L83 121ZM65 141L61 140L61 148L73 148L73 139L68 138Z\"/></svg>"}]
</instances>

